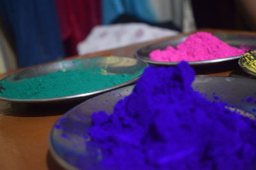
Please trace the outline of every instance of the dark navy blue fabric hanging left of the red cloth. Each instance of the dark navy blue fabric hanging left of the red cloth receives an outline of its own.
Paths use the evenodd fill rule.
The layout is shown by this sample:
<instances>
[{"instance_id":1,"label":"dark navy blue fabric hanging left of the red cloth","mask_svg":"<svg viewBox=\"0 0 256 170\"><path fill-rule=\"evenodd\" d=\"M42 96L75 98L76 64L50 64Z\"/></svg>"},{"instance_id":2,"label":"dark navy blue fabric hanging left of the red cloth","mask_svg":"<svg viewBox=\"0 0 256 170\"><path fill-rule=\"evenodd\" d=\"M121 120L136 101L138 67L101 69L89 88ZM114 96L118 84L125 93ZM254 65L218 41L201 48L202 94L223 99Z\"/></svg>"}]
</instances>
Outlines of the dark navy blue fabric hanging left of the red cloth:
<instances>
[{"instance_id":1,"label":"dark navy blue fabric hanging left of the red cloth","mask_svg":"<svg viewBox=\"0 0 256 170\"><path fill-rule=\"evenodd\" d=\"M0 14L14 39L19 67L64 57L54 0L1 0Z\"/></svg>"}]
</instances>

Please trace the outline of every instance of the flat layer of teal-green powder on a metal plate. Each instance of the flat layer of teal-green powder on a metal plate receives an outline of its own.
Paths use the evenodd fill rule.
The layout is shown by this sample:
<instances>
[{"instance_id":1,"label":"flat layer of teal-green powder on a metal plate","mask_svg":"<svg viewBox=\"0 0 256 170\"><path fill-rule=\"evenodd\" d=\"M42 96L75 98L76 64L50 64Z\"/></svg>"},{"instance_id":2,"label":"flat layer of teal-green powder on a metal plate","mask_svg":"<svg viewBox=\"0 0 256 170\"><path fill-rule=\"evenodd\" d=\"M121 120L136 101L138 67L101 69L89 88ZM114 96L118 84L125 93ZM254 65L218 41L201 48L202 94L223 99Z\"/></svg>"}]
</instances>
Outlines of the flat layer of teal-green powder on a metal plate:
<instances>
[{"instance_id":1,"label":"flat layer of teal-green powder on a metal plate","mask_svg":"<svg viewBox=\"0 0 256 170\"><path fill-rule=\"evenodd\" d=\"M15 99L63 97L106 89L132 80L139 74L103 74L95 69L56 71L45 76L0 81L0 96Z\"/></svg>"}]
</instances>

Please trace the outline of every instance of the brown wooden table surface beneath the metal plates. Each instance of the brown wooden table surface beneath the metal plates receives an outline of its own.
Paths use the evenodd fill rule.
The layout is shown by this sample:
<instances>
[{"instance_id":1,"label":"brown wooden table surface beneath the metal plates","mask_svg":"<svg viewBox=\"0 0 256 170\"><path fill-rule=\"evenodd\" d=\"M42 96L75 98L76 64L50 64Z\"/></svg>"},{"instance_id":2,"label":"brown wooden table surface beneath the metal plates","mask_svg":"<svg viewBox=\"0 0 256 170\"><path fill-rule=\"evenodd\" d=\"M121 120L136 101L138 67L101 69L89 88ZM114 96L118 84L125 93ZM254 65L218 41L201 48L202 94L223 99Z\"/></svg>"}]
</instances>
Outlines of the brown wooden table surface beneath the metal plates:
<instances>
[{"instance_id":1,"label":"brown wooden table surface beneath the metal plates","mask_svg":"<svg viewBox=\"0 0 256 170\"><path fill-rule=\"evenodd\" d=\"M256 35L256 32L247 31L213 29L199 31ZM179 34L178 36L184 35L187 34ZM132 57L133 53L141 46L171 38L177 38L177 36L72 58L108 55ZM15 72L0 74L0 78ZM238 64L225 69L212 70L210 73L203 70L197 75L250 77L250 75L241 71ZM45 106L45 104L13 104L0 101L0 169L61 169L49 153L49 133L54 122L74 106L74 103L48 104Z\"/></svg>"}]
</instances>

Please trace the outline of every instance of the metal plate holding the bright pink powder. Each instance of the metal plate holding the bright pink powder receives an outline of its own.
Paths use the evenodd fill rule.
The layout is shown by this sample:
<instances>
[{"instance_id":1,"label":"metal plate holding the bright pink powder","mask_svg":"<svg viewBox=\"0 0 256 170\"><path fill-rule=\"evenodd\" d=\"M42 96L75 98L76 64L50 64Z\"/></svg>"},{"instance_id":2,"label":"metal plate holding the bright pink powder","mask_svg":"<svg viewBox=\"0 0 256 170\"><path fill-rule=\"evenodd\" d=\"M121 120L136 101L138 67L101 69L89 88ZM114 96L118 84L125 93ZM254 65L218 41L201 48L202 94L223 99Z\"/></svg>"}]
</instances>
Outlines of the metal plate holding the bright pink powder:
<instances>
[{"instance_id":1,"label":"metal plate holding the bright pink powder","mask_svg":"<svg viewBox=\"0 0 256 170\"><path fill-rule=\"evenodd\" d=\"M256 48L256 36L249 36L249 35L243 35L243 34L213 34L214 36L221 39L221 41L224 41L230 46L239 47L241 45L246 45L250 49ZM145 62L148 62L150 64L159 64L159 65L167 65L167 66L175 66L179 62L159 62L151 60L149 57L150 52L160 49L164 50L167 46L177 46L182 41L184 41L188 36L182 36L175 39L170 39L167 41L161 41L159 43L154 43L152 45L143 46L140 49L138 49L134 53L134 57L137 59L143 60ZM226 62L230 60L238 60L241 55L237 56L230 56L225 57L222 59L214 59L214 60L200 60L200 61L192 61L188 62L191 66L207 66L207 65L214 65L218 64L220 62Z\"/></svg>"}]
</instances>

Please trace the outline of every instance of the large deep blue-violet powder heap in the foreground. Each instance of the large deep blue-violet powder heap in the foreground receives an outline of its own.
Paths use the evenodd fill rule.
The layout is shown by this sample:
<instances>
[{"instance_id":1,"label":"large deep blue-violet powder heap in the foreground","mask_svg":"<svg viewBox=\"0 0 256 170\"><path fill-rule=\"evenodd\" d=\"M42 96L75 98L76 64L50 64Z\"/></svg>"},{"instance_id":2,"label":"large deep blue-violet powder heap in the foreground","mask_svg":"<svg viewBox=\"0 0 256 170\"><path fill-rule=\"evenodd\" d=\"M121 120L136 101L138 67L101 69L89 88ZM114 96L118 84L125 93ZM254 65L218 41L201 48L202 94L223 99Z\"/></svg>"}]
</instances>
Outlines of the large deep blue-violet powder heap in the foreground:
<instances>
[{"instance_id":1,"label":"large deep blue-violet powder heap in the foreground","mask_svg":"<svg viewBox=\"0 0 256 170\"><path fill-rule=\"evenodd\" d=\"M207 101L194 77L187 62L150 66L113 114L93 113L103 169L256 169L256 123Z\"/></svg>"}]
</instances>

